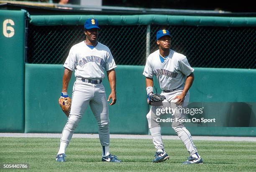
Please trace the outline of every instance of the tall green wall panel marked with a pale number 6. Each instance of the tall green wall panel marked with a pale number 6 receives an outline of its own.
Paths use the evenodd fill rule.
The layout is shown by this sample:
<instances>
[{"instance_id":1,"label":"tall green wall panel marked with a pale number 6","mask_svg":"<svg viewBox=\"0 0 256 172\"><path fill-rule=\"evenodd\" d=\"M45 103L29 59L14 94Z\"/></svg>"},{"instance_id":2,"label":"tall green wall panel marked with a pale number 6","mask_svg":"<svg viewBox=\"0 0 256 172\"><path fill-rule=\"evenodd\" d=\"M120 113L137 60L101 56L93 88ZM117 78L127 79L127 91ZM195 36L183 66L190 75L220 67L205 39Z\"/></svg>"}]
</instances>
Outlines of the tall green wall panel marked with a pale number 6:
<instances>
[{"instance_id":1,"label":"tall green wall panel marked with a pale number 6","mask_svg":"<svg viewBox=\"0 0 256 172\"><path fill-rule=\"evenodd\" d=\"M24 132L25 12L0 10L0 132Z\"/></svg>"}]
</instances>

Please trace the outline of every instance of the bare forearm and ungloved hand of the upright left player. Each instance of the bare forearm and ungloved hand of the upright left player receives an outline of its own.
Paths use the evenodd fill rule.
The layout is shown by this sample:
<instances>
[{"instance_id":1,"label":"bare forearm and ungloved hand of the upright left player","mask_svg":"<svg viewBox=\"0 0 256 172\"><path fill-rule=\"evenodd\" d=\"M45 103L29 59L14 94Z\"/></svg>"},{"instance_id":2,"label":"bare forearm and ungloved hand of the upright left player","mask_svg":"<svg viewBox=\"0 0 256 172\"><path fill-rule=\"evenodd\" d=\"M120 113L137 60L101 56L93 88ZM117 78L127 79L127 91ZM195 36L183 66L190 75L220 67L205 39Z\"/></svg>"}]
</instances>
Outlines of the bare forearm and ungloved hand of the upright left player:
<instances>
[{"instance_id":1,"label":"bare forearm and ungloved hand of the upright left player","mask_svg":"<svg viewBox=\"0 0 256 172\"><path fill-rule=\"evenodd\" d=\"M111 93L108 96L108 101L110 101L110 99L112 99L112 102L109 104L111 105L115 105L116 102L116 91L115 91L115 87L116 87L116 77L115 77L115 70L108 70L107 71L107 75L108 75L108 81L110 84L110 88L111 88Z\"/></svg>"}]
</instances>

